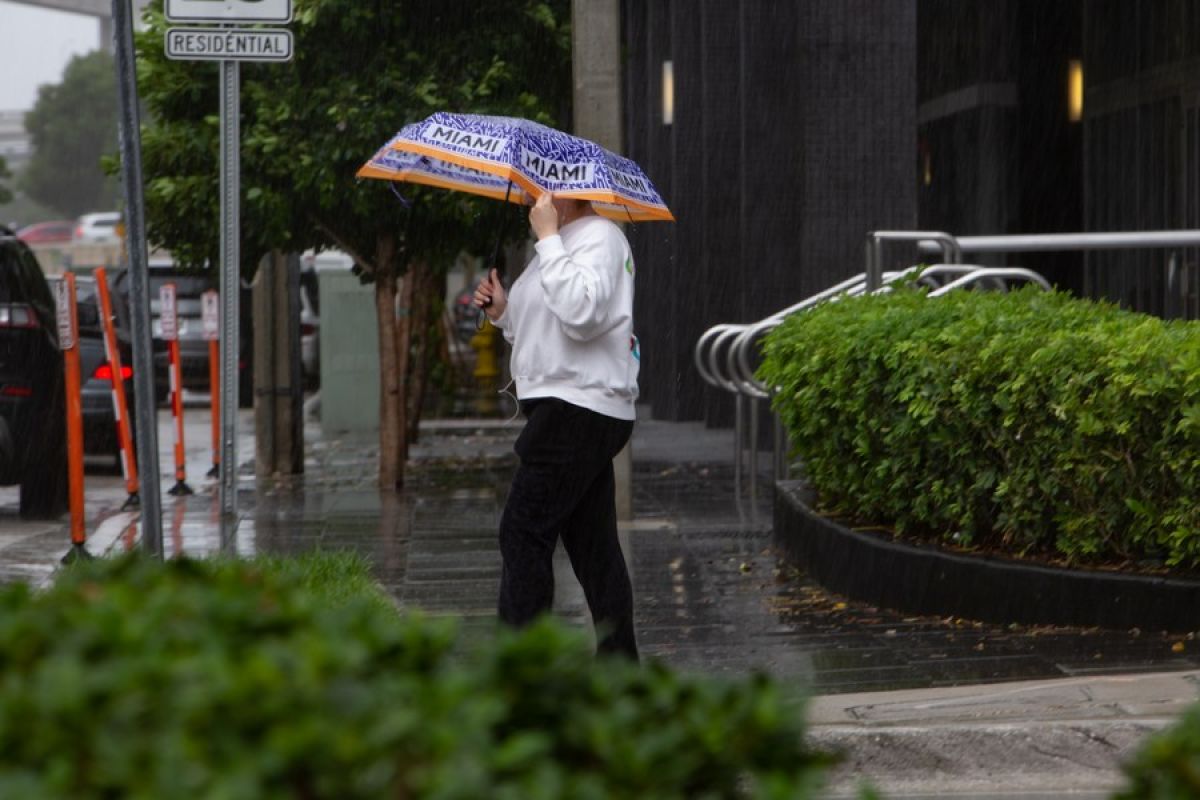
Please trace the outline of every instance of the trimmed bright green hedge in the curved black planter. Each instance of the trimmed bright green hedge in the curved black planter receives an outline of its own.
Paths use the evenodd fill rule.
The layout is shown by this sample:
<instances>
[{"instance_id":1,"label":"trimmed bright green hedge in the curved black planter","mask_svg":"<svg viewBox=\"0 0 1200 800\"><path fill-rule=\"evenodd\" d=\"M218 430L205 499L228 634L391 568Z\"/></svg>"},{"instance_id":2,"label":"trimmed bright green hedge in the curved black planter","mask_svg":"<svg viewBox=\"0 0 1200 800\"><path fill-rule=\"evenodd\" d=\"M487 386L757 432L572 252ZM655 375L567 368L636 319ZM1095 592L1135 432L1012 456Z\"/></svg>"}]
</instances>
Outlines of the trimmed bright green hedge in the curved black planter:
<instances>
[{"instance_id":1,"label":"trimmed bright green hedge in the curved black planter","mask_svg":"<svg viewBox=\"0 0 1200 800\"><path fill-rule=\"evenodd\" d=\"M796 314L760 377L833 512L962 546L1200 565L1200 324L1034 289Z\"/></svg>"}]
</instances>

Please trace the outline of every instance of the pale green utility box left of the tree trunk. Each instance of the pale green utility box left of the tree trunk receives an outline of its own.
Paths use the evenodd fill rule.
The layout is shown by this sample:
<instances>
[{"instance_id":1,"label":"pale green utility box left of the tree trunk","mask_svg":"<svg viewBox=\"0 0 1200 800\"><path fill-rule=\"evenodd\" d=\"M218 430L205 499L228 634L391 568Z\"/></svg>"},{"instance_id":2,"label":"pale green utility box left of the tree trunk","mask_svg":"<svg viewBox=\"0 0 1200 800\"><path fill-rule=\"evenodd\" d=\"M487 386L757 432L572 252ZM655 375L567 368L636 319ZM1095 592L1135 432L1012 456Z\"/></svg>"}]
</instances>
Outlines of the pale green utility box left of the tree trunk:
<instances>
[{"instance_id":1,"label":"pale green utility box left of the tree trunk","mask_svg":"<svg viewBox=\"0 0 1200 800\"><path fill-rule=\"evenodd\" d=\"M359 283L348 257L319 253L320 428L326 434L379 429L379 332L374 287Z\"/></svg>"}]
</instances>

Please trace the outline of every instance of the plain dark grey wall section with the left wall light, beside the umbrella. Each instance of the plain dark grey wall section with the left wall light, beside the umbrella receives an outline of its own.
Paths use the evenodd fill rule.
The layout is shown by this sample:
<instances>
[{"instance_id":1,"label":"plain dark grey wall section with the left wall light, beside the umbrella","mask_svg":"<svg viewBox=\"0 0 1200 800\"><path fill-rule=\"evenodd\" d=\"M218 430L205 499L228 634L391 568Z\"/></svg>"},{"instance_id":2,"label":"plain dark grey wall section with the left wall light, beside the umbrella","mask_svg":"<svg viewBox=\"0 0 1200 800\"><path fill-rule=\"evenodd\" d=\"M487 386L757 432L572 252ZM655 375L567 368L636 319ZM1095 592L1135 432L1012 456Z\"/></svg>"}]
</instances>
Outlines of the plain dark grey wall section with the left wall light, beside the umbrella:
<instances>
[{"instance_id":1,"label":"plain dark grey wall section with the left wall light, beside the umbrella","mask_svg":"<svg viewBox=\"0 0 1200 800\"><path fill-rule=\"evenodd\" d=\"M862 271L866 230L917 223L916 8L623 2L626 150L678 218L630 230L655 417L726 421L692 363L700 335Z\"/></svg>"}]
</instances>

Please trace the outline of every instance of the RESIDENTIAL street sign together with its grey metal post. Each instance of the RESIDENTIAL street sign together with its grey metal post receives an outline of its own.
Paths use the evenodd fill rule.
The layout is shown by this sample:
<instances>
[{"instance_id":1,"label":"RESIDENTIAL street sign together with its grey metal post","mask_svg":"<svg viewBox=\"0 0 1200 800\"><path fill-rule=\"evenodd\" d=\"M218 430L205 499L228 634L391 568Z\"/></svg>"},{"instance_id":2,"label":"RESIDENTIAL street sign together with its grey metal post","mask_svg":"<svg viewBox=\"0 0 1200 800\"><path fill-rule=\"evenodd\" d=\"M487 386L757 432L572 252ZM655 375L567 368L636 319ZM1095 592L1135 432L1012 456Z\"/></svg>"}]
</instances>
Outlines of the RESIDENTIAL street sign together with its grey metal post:
<instances>
[{"instance_id":1,"label":"RESIDENTIAL street sign together with its grey metal post","mask_svg":"<svg viewBox=\"0 0 1200 800\"><path fill-rule=\"evenodd\" d=\"M241 61L288 61L292 31L242 28L292 22L292 0L166 0L173 23L223 23L229 28L172 28L167 56L221 62L221 518L222 533L238 513L238 321L241 291L240 150ZM223 536L224 537L224 536Z\"/></svg>"}]
</instances>

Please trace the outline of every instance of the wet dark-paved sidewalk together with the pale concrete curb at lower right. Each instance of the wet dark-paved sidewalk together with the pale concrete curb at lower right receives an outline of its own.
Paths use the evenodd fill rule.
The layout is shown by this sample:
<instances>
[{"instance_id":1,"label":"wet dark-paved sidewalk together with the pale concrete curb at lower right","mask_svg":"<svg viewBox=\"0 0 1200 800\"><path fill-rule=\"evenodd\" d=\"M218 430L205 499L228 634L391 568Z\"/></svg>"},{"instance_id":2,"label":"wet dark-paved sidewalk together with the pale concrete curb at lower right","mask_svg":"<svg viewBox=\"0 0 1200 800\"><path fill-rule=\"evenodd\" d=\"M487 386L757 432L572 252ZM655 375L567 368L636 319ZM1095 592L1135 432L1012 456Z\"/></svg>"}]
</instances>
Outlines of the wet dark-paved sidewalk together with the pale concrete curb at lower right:
<instances>
[{"instance_id":1,"label":"wet dark-paved sidewalk together with the pale concrete curb at lower right","mask_svg":"<svg viewBox=\"0 0 1200 800\"><path fill-rule=\"evenodd\" d=\"M1192 637L905 618L828 595L776 555L769 481L756 500L734 492L730 431L646 417L632 445L635 518L622 530L642 651L706 674L766 670L797 697L815 694L814 739L848 753L830 796L864 776L889 798L1106 796L1120 760L1200 698ZM226 537L216 481L204 477L206 426L205 409L190 408L197 494L163 498L168 554L222 541L241 554L353 549L401 606L461 618L468 636L494 624L496 524L518 425L422 426L406 489L382 495L377 443L324 437L314 422L305 475L256 486L244 413L239 515ZM163 453L172 435L162 414ZM88 486L89 549L128 546L137 515L119 511L120 476L92 471ZM0 489L0 581L44 582L67 549L65 521L23 523L14 510L16 489ZM565 559L557 566L556 612L582 624L582 594Z\"/></svg>"}]
</instances>

